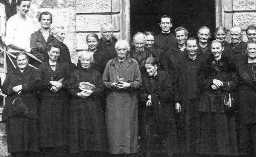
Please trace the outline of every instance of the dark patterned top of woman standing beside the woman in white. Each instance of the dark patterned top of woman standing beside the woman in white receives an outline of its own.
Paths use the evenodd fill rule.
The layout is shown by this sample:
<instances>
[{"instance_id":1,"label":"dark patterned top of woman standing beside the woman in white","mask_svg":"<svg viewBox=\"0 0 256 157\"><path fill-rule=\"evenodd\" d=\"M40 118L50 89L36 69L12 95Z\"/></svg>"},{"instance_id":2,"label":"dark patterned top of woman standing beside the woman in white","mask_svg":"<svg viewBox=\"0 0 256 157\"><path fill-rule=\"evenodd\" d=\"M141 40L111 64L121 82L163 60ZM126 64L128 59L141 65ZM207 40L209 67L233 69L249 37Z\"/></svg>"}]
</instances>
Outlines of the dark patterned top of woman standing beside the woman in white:
<instances>
[{"instance_id":1,"label":"dark patterned top of woman standing beside the woman in white","mask_svg":"<svg viewBox=\"0 0 256 157\"><path fill-rule=\"evenodd\" d=\"M44 39L44 36L41 32L41 29L36 31L35 33L31 34L30 37L30 48L32 51L30 52L32 55L37 57L38 59L42 61L46 61L46 58L44 57L47 53L47 43L49 43L50 35L47 39L47 41Z\"/></svg>"}]
</instances>

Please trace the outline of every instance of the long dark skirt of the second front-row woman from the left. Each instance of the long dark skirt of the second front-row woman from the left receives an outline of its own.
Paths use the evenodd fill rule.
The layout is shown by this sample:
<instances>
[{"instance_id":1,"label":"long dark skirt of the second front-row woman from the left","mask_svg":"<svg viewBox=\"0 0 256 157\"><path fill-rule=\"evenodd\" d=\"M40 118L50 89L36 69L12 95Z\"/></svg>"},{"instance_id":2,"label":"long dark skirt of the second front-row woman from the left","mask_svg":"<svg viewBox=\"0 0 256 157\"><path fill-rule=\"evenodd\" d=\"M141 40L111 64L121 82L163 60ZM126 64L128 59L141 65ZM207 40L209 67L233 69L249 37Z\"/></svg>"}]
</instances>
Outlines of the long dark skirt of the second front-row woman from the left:
<instances>
[{"instance_id":1,"label":"long dark skirt of the second front-row woman from the left","mask_svg":"<svg viewBox=\"0 0 256 157\"><path fill-rule=\"evenodd\" d=\"M66 99L41 99L39 109L39 147L60 147L67 144Z\"/></svg>"}]
</instances>

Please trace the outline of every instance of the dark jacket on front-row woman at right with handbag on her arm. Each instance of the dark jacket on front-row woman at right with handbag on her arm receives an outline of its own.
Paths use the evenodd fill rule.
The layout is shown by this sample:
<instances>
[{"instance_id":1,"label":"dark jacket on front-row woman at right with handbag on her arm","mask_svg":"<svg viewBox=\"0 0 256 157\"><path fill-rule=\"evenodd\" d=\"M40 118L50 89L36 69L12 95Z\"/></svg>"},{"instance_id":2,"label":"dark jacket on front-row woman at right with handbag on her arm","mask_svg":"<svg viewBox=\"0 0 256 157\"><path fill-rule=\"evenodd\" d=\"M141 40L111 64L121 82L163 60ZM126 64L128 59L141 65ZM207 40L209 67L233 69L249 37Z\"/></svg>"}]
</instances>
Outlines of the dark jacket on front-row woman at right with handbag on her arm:
<instances>
[{"instance_id":1,"label":"dark jacket on front-row woman at right with handbag on her arm","mask_svg":"<svg viewBox=\"0 0 256 157\"><path fill-rule=\"evenodd\" d=\"M230 91L233 93L238 87L238 76L236 72L235 63L228 55L222 53L220 61L223 66L220 67L219 72L212 67L212 61L215 58L211 54L200 67L199 87L203 90L201 94L199 111L201 112L216 112L224 113L224 97ZM218 90L213 90L213 79L218 79L223 82L223 87ZM230 87L228 85L230 84Z\"/></svg>"}]
</instances>

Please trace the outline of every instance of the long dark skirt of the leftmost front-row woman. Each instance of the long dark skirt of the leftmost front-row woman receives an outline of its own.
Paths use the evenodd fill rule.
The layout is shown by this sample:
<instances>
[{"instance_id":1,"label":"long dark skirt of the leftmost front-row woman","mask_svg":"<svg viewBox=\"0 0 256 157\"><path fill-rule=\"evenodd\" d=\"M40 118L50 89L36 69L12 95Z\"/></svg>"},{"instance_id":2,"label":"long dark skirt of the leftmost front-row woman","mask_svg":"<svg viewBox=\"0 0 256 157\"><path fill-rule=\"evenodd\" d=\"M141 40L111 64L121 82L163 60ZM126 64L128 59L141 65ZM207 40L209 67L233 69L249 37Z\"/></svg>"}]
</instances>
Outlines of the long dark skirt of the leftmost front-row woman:
<instances>
[{"instance_id":1,"label":"long dark skirt of the leftmost front-row woman","mask_svg":"<svg viewBox=\"0 0 256 157\"><path fill-rule=\"evenodd\" d=\"M38 120L12 116L6 120L8 152L38 152Z\"/></svg>"}]
</instances>

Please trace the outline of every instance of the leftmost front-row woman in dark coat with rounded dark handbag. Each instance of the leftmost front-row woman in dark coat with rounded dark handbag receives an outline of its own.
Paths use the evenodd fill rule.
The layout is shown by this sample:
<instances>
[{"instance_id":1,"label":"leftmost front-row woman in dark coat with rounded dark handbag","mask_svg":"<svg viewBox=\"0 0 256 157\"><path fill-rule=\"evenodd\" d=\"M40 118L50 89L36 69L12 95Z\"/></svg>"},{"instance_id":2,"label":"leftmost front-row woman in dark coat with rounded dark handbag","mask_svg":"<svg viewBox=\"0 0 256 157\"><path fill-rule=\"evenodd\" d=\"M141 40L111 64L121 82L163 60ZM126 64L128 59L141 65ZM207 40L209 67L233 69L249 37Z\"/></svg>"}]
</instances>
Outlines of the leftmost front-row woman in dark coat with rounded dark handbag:
<instances>
[{"instance_id":1,"label":"leftmost front-row woman in dark coat with rounded dark handbag","mask_svg":"<svg viewBox=\"0 0 256 157\"><path fill-rule=\"evenodd\" d=\"M8 72L2 91L7 95L2 120L6 121L11 156L36 156L38 152L38 102L36 70L27 66L25 52L17 53L17 68Z\"/></svg>"}]
</instances>

